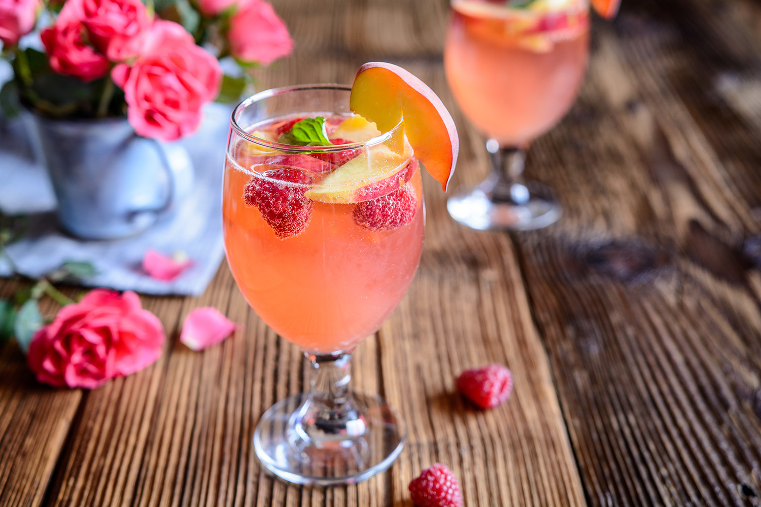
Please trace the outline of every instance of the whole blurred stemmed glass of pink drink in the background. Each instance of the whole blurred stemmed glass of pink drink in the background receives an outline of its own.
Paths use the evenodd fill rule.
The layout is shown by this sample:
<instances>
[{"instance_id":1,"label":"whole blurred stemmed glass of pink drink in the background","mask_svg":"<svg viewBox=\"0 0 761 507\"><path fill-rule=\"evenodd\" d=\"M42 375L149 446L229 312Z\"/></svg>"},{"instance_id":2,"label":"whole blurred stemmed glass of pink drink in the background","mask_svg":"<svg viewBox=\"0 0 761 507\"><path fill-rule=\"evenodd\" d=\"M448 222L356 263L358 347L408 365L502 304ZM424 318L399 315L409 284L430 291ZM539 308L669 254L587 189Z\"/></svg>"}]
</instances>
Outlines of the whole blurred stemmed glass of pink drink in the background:
<instances>
[{"instance_id":1,"label":"whole blurred stemmed glass of pink drink in the background","mask_svg":"<svg viewBox=\"0 0 761 507\"><path fill-rule=\"evenodd\" d=\"M478 230L531 230L560 217L552 191L522 177L525 151L571 108L589 55L587 0L452 0L444 44L460 109L486 134L492 170L447 201Z\"/></svg>"}]
</instances>

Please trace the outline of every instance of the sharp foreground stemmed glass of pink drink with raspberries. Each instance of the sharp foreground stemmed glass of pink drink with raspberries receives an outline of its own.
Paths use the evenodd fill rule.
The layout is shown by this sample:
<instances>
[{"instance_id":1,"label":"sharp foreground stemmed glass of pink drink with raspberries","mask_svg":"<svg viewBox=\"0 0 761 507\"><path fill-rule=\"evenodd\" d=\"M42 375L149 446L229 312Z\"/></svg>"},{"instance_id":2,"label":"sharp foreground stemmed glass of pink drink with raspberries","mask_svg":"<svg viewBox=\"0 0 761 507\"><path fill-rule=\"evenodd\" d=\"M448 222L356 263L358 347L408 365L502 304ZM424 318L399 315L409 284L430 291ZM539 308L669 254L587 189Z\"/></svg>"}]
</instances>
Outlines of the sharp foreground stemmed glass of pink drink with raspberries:
<instances>
[{"instance_id":1,"label":"sharp foreground stemmed glass of pink drink with raspberries","mask_svg":"<svg viewBox=\"0 0 761 507\"><path fill-rule=\"evenodd\" d=\"M314 84L244 100L232 115L224 168L225 252L235 281L309 365L309 391L266 410L253 436L263 465L300 484L368 479L405 442L396 412L349 381L352 349L393 312L418 267L422 182L409 144L402 154L398 144L389 148L401 122L365 141L345 139L371 132L349 110L350 91ZM340 134L340 144L284 144L282 132L304 118L323 121L323 133Z\"/></svg>"}]
</instances>

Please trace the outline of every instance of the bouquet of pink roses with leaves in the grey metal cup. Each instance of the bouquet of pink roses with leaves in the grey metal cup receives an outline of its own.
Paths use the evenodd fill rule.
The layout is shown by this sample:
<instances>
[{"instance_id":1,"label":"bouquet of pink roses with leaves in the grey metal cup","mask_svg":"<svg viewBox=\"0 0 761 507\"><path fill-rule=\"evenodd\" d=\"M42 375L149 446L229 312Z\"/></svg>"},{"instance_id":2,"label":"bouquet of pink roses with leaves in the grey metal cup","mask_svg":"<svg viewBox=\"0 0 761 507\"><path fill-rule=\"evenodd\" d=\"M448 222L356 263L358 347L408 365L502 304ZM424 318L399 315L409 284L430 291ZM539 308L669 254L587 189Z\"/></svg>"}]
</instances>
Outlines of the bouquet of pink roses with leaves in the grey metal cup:
<instances>
[{"instance_id":1,"label":"bouquet of pink roses with leaves in the grey metal cup","mask_svg":"<svg viewBox=\"0 0 761 507\"><path fill-rule=\"evenodd\" d=\"M237 100L252 68L294 45L263 0L0 0L0 41L14 73L5 110L18 97L48 117L126 115L164 141L195 132L205 103Z\"/></svg>"}]
</instances>

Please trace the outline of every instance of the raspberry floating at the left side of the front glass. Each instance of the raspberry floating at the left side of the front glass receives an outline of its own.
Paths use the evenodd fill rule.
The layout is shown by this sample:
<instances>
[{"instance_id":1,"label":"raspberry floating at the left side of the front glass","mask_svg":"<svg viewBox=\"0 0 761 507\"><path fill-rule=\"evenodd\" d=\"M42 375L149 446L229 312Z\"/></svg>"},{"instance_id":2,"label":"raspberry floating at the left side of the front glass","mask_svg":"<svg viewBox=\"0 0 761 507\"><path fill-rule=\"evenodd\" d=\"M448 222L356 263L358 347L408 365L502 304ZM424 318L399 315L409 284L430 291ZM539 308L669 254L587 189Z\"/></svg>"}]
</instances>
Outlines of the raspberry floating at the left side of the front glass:
<instances>
[{"instance_id":1,"label":"raspberry floating at the left side of the front glass","mask_svg":"<svg viewBox=\"0 0 761 507\"><path fill-rule=\"evenodd\" d=\"M244 188L244 202L260 211L280 239L303 233L314 208L314 203L304 197L310 176L295 169L276 169L265 176L251 177Z\"/></svg>"}]
</instances>

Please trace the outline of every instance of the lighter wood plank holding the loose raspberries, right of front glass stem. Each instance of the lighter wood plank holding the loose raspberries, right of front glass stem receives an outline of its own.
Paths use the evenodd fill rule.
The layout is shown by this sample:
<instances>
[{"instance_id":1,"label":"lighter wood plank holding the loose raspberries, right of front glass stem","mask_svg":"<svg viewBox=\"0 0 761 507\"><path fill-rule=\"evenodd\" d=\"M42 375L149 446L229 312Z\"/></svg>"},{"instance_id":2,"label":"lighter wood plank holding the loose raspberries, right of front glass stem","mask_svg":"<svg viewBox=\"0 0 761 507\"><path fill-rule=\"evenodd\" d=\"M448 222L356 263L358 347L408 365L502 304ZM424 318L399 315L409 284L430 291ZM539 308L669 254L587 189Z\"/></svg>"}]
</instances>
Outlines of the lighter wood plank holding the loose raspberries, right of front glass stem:
<instances>
[{"instance_id":1,"label":"lighter wood plank holding the loose raspberries, right of front glass stem","mask_svg":"<svg viewBox=\"0 0 761 507\"><path fill-rule=\"evenodd\" d=\"M409 68L457 110L435 68ZM482 151L481 143L463 143L463 177L485 162ZM409 425L409 452L393 469L394 500L406 498L417 471L441 461L462 478L466 505L585 505L508 237L460 227L435 182L427 183L416 282L380 330L387 397ZM456 395L454 378L490 362L512 369L514 394L503 407L474 410Z\"/></svg>"}]
</instances>

